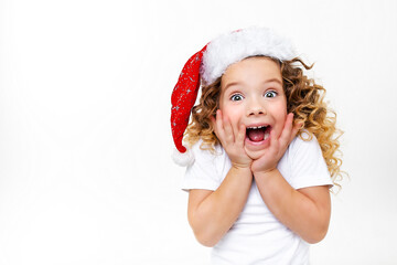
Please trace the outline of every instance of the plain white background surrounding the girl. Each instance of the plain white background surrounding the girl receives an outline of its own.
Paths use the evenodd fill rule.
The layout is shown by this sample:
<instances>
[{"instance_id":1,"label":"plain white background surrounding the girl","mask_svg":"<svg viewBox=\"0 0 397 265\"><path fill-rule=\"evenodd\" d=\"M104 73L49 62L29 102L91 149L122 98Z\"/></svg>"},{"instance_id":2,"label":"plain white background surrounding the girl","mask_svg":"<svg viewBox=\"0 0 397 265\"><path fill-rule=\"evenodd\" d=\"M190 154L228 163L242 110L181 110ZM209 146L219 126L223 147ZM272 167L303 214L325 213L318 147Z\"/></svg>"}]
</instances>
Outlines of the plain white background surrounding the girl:
<instances>
[{"instance_id":1,"label":"plain white background surrounding the girl","mask_svg":"<svg viewBox=\"0 0 397 265\"><path fill-rule=\"evenodd\" d=\"M396 1L0 1L0 264L206 264L170 155L186 60L266 25L315 63L343 169L312 264L396 264Z\"/></svg>"}]
</instances>

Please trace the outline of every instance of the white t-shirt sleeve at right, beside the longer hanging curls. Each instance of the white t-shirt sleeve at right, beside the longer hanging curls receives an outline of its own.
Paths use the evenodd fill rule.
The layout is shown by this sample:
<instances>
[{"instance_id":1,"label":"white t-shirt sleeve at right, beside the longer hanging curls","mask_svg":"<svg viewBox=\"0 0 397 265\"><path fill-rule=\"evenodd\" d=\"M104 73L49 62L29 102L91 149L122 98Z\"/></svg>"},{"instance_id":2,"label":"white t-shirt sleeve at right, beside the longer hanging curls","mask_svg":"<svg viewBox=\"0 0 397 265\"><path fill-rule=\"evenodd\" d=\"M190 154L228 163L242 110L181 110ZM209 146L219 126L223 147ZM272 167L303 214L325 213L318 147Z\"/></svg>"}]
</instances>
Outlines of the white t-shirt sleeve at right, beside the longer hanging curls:
<instances>
[{"instance_id":1,"label":"white t-shirt sleeve at right, beside the longer hanging curls","mask_svg":"<svg viewBox=\"0 0 397 265\"><path fill-rule=\"evenodd\" d=\"M291 142L291 179L294 189L333 186L330 172L316 138L305 141L297 137Z\"/></svg>"}]
</instances>

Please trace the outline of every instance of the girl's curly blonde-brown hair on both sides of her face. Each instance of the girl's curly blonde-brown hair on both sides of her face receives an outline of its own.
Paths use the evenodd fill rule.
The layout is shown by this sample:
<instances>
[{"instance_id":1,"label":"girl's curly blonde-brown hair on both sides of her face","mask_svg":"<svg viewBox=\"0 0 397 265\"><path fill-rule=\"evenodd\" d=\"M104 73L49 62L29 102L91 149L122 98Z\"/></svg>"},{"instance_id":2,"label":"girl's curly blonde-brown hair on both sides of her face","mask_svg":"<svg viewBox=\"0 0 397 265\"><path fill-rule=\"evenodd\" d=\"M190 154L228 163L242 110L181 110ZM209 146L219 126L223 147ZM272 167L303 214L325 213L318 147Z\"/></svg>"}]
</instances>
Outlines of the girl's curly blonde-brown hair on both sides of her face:
<instances>
[{"instance_id":1,"label":"girl's curly blonde-brown hair on both sides of her face","mask_svg":"<svg viewBox=\"0 0 397 265\"><path fill-rule=\"evenodd\" d=\"M277 60L275 62L279 63ZM340 169L342 159L339 157L341 153L339 138L343 131L335 126L335 112L324 103L325 88L304 75L302 66L304 70L311 70L313 65L307 65L301 59L296 57L279 64L287 97L287 112L293 113L294 123L303 124L298 136L307 141L315 136L332 181L340 188L337 182L342 180L343 172ZM222 76L202 87L200 103L192 108L192 119L184 134L184 141L189 146L202 139L201 148L214 151L215 145L219 144L211 117L215 117L218 109L221 81Z\"/></svg>"}]
</instances>

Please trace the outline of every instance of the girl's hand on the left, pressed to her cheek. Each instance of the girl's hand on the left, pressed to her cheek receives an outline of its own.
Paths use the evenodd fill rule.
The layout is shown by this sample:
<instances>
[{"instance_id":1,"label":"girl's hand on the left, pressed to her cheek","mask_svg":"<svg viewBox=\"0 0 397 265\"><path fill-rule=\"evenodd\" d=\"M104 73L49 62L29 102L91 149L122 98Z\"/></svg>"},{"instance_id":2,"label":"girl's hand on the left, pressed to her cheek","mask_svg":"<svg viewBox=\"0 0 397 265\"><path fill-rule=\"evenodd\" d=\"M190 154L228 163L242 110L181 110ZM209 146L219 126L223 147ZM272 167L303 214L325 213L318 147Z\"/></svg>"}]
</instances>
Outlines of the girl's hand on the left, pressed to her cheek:
<instances>
[{"instance_id":1,"label":"girl's hand on the left, pressed to her cheek","mask_svg":"<svg viewBox=\"0 0 397 265\"><path fill-rule=\"evenodd\" d=\"M216 119L211 118L214 123L215 134L219 139L223 148L232 161L232 166L237 168L249 168L250 159L244 149L246 127L240 125L239 128L233 128L226 116L223 116L221 109L216 112Z\"/></svg>"}]
</instances>

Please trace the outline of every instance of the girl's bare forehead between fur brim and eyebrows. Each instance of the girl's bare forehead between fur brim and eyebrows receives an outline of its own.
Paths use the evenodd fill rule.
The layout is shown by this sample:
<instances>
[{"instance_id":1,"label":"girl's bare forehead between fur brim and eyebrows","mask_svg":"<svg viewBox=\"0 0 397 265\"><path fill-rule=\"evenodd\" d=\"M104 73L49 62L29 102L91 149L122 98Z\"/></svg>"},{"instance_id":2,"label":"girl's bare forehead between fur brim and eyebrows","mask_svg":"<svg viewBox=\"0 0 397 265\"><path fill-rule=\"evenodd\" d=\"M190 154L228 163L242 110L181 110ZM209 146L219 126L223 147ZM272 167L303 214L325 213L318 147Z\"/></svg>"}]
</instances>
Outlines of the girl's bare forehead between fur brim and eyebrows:
<instances>
[{"instance_id":1,"label":"girl's bare forehead between fur brim and eyebrows","mask_svg":"<svg viewBox=\"0 0 397 265\"><path fill-rule=\"evenodd\" d=\"M282 83L280 63L265 56L247 57L232 64L222 76L222 86L230 82L278 80Z\"/></svg>"}]
</instances>

